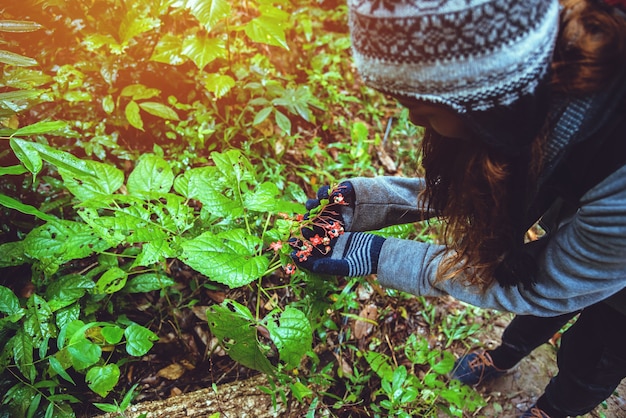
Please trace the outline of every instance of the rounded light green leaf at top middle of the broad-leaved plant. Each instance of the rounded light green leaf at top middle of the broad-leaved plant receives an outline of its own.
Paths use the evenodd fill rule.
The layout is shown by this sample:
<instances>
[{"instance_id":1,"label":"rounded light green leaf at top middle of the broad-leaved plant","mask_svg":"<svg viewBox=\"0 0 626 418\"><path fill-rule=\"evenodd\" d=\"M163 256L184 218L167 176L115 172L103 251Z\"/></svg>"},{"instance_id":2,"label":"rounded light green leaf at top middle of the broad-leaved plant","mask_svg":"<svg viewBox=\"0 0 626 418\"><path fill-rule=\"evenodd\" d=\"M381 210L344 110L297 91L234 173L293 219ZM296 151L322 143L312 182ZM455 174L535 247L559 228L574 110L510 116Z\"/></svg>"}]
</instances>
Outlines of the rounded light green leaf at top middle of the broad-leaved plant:
<instances>
[{"instance_id":1,"label":"rounded light green leaf at top middle of the broad-leaved plant","mask_svg":"<svg viewBox=\"0 0 626 418\"><path fill-rule=\"evenodd\" d=\"M142 192L167 193L174 184L172 168L163 158L144 154L128 176L126 184L130 194L142 196Z\"/></svg>"}]
</instances>

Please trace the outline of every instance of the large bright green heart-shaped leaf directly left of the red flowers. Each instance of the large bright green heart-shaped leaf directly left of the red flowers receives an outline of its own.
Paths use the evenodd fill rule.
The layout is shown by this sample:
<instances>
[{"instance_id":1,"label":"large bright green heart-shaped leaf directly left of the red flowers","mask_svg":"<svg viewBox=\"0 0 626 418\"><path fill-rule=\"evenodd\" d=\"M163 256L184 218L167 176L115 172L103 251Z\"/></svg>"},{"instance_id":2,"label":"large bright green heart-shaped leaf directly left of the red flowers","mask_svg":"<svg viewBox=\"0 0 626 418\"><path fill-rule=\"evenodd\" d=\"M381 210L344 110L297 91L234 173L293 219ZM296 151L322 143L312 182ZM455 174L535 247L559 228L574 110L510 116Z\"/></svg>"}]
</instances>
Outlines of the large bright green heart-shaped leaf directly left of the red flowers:
<instances>
[{"instance_id":1,"label":"large bright green heart-shaped leaf directly left of the red flowers","mask_svg":"<svg viewBox=\"0 0 626 418\"><path fill-rule=\"evenodd\" d=\"M191 268L231 288L262 277L269 260L257 255L262 241L243 229L202 235L182 243L180 257Z\"/></svg>"}]
</instances>

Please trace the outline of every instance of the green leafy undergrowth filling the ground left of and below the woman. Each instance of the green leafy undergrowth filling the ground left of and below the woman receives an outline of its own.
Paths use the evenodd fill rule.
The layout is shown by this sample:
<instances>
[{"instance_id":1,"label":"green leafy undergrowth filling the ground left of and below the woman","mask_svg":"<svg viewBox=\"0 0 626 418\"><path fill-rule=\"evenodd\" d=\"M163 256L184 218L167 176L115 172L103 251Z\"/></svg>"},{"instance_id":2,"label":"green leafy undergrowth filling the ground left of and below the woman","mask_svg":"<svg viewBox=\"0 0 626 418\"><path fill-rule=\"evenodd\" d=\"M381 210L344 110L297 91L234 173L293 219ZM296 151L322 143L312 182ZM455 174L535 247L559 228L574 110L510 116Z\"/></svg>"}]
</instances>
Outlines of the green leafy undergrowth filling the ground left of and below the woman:
<instances>
[{"instance_id":1,"label":"green leafy undergrowth filling the ground left of and below the woman","mask_svg":"<svg viewBox=\"0 0 626 418\"><path fill-rule=\"evenodd\" d=\"M158 319L126 315L133 298L165 300L172 322L198 303L196 289L181 296L175 263L193 269L193 286L233 290L203 311L211 335L271 377L263 390L309 414L342 379L337 409L352 400L367 413L436 405L458 416L466 400L478 405L471 391L442 395L456 387L446 392L433 359L450 357L420 345L419 363L412 339L403 355L433 378L345 341L335 351L354 367L333 371L314 350L361 320L351 312L367 282L294 273L283 245L301 225L294 214L320 184L416 171L420 131L404 112L389 137L377 133L396 106L354 77L343 5L235 3L2 6L0 416L74 416L89 401L123 411L137 387L120 387L125 370L160 337ZM429 226L383 233L432 239ZM446 322L448 342L475 331L464 318ZM371 405L367 382L380 386Z\"/></svg>"}]
</instances>

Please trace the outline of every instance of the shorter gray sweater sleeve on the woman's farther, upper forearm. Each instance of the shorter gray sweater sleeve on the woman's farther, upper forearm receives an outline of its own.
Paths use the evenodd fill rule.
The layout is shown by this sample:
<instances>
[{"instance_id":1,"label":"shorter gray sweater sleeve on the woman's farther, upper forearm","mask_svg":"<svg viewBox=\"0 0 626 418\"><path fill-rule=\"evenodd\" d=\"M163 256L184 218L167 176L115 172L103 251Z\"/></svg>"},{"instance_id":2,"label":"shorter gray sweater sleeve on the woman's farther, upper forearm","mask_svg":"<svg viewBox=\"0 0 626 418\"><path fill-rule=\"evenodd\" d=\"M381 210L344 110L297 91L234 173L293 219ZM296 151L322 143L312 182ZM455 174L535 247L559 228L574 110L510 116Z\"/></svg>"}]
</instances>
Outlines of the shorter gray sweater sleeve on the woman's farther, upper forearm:
<instances>
[{"instance_id":1,"label":"shorter gray sweater sleeve on the woman's farther, upper forearm","mask_svg":"<svg viewBox=\"0 0 626 418\"><path fill-rule=\"evenodd\" d=\"M356 177L349 179L354 187L354 209L344 210L347 231L373 231L427 219L418 207L418 195L424 189L422 178Z\"/></svg>"}]
</instances>

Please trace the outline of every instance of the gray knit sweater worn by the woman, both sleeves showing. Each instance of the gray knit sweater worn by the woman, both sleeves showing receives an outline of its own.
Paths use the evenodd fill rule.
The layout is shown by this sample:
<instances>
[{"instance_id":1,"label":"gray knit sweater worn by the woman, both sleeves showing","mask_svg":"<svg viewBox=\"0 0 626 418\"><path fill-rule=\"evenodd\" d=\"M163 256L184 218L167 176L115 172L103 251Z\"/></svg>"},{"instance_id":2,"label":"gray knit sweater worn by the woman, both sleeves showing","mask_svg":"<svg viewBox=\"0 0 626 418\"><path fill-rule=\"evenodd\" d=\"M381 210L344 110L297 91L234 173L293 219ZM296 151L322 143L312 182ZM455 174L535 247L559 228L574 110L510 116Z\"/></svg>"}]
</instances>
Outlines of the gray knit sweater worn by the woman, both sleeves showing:
<instances>
[{"instance_id":1,"label":"gray knit sweater worn by the woman, both sleeves showing","mask_svg":"<svg viewBox=\"0 0 626 418\"><path fill-rule=\"evenodd\" d=\"M353 178L354 211L346 230L370 231L428 218L417 207L423 179ZM449 294L461 301L520 315L554 316L602 301L626 287L626 166L590 189L538 257L532 288L494 284L485 291L463 277L436 282L442 246L389 238L378 265L383 286L414 295Z\"/></svg>"}]
</instances>

